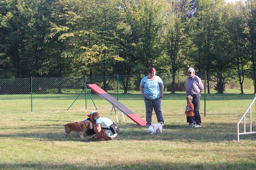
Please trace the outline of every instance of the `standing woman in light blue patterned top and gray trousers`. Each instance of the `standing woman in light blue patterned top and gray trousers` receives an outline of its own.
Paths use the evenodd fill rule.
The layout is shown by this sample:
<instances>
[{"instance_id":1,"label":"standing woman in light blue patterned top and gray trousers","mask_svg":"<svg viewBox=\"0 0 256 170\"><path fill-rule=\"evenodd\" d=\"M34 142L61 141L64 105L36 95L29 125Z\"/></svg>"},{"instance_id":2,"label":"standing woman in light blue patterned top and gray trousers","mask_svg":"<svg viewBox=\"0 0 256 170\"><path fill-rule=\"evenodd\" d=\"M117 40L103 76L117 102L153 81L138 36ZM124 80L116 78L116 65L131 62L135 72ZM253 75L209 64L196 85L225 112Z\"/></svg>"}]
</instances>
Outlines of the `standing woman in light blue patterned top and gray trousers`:
<instances>
[{"instance_id":1,"label":"standing woman in light blue patterned top and gray trousers","mask_svg":"<svg viewBox=\"0 0 256 170\"><path fill-rule=\"evenodd\" d=\"M140 92L143 95L146 107L146 122L149 127L152 122L152 111L156 113L157 122L164 126L164 118L161 110L161 99L164 92L162 79L156 75L156 69L148 69L148 75L140 81Z\"/></svg>"}]
</instances>

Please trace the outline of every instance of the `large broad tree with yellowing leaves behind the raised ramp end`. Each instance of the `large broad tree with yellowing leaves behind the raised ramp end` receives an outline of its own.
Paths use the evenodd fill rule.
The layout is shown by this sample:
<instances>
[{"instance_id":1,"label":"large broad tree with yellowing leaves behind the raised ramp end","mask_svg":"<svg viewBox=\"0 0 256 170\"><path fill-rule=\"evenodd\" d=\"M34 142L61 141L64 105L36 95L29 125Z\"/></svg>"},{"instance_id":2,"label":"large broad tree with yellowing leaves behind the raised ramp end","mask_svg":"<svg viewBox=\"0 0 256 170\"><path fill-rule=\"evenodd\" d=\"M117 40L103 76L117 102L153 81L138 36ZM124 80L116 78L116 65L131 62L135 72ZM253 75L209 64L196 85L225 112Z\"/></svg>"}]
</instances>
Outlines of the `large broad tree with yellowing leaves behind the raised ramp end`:
<instances>
[{"instance_id":1,"label":"large broad tree with yellowing leaves behind the raised ramp end","mask_svg":"<svg viewBox=\"0 0 256 170\"><path fill-rule=\"evenodd\" d=\"M119 59L115 36L119 23L118 4L118 0L55 3L52 32L47 42L56 42L65 75L112 74L115 61ZM52 60L54 62L56 57ZM106 80L103 83L107 91L108 83Z\"/></svg>"}]
</instances>

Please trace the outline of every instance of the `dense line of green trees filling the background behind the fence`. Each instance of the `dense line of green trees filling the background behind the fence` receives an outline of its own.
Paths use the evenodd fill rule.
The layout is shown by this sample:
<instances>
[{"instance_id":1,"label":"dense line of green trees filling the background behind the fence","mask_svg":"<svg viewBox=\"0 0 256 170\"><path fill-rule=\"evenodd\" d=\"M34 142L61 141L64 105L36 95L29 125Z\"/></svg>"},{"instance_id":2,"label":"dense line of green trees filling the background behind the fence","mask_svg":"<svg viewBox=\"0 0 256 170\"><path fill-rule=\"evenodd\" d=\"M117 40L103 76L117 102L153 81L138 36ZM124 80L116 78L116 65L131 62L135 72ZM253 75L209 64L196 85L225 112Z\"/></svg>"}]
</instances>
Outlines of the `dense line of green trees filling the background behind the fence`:
<instances>
[{"instance_id":1,"label":"dense line of green trees filling the background behind the fence","mask_svg":"<svg viewBox=\"0 0 256 170\"><path fill-rule=\"evenodd\" d=\"M1 0L0 78L207 71L254 82L256 1ZM216 73L218 76L209 75ZM128 76L127 76L128 77ZM129 78L123 80L128 84Z\"/></svg>"}]
</instances>

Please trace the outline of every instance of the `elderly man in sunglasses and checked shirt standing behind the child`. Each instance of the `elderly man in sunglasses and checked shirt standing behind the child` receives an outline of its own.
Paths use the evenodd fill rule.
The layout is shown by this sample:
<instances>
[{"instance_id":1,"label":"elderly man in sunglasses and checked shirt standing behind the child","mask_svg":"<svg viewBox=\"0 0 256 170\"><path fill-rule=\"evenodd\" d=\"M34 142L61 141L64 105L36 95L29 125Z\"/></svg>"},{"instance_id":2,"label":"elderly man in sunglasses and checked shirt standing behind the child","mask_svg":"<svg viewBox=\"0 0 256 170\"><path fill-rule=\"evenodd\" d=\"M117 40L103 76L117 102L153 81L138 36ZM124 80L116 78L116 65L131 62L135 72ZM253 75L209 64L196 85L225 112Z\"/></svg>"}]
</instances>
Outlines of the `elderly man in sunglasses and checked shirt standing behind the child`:
<instances>
[{"instance_id":1,"label":"elderly man in sunglasses and checked shirt standing behind the child","mask_svg":"<svg viewBox=\"0 0 256 170\"><path fill-rule=\"evenodd\" d=\"M201 79L195 75L195 69L191 67L188 68L186 93L187 95L191 95L193 97L192 103L194 105L196 128L202 127L199 107L200 107L200 96L203 90L204 90L204 85Z\"/></svg>"}]
</instances>

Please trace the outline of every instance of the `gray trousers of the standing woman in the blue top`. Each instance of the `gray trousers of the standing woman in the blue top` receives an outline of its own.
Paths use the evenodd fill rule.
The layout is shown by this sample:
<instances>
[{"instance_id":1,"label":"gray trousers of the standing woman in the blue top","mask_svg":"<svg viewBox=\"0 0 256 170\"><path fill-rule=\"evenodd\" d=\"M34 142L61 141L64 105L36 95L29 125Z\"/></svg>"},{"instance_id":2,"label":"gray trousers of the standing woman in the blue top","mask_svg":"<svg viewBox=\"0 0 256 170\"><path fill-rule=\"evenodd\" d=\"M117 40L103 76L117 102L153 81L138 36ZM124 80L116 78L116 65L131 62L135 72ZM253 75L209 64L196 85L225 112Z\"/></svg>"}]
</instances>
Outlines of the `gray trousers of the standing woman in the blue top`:
<instances>
[{"instance_id":1,"label":"gray trousers of the standing woman in the blue top","mask_svg":"<svg viewBox=\"0 0 256 170\"><path fill-rule=\"evenodd\" d=\"M163 122L164 118L161 110L161 99L149 100L147 97L144 97L145 107L146 107L146 122L147 125L150 125L152 122L152 112L153 108L156 113L157 122Z\"/></svg>"}]
</instances>

